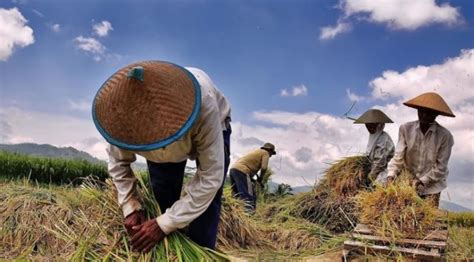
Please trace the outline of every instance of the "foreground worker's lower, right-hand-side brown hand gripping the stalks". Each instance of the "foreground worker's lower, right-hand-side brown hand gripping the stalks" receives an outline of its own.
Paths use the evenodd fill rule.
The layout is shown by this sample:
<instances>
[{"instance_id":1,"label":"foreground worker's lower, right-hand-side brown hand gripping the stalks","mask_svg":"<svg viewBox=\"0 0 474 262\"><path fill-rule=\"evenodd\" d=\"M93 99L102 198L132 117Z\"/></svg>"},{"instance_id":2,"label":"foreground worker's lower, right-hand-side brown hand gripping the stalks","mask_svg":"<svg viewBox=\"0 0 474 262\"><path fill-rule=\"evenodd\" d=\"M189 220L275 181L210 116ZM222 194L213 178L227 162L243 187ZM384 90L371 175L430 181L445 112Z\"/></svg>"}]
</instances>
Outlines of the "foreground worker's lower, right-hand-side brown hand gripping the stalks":
<instances>
[{"instance_id":1,"label":"foreground worker's lower, right-hand-side brown hand gripping the stalks","mask_svg":"<svg viewBox=\"0 0 474 262\"><path fill-rule=\"evenodd\" d=\"M163 238L165 233L161 230L156 219L150 219L145 223L132 228L136 233L131 239L134 251L147 253Z\"/></svg>"}]
</instances>

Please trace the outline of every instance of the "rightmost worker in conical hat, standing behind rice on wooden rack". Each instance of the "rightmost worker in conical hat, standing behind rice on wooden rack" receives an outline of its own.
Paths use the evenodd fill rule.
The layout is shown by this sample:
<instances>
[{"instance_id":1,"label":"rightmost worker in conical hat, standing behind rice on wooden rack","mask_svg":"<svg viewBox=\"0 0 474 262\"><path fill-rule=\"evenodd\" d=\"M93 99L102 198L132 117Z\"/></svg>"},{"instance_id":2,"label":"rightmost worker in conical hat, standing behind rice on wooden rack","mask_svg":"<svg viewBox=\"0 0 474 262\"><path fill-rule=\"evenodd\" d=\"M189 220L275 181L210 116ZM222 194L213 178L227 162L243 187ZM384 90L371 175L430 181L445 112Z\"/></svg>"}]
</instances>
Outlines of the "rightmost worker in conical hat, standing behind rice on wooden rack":
<instances>
[{"instance_id":1,"label":"rightmost worker in conical hat, standing behind rice on wooden rack","mask_svg":"<svg viewBox=\"0 0 474 262\"><path fill-rule=\"evenodd\" d=\"M438 124L438 115L455 117L437 93L424 93L407 102L418 110L418 121L400 126L395 156L388 164L389 181L406 168L414 175L413 185L423 198L439 205L441 191L446 188L448 161L454 140L451 133Z\"/></svg>"}]
</instances>

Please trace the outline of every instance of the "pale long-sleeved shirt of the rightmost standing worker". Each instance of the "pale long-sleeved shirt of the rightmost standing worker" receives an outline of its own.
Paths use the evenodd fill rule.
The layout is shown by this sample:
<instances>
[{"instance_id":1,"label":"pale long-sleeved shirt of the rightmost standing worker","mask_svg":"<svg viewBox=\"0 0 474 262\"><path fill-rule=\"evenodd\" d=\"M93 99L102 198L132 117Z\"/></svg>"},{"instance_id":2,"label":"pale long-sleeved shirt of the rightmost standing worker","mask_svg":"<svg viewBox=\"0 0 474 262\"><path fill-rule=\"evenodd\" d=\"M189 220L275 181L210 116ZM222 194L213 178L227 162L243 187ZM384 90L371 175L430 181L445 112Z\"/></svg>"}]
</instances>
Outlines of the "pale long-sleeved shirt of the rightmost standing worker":
<instances>
[{"instance_id":1,"label":"pale long-sleeved shirt of the rightmost standing worker","mask_svg":"<svg viewBox=\"0 0 474 262\"><path fill-rule=\"evenodd\" d=\"M421 132L419 121L400 126L395 156L388 164L388 176L396 177L403 167L424 185L422 195L446 188L448 161L454 145L451 133L437 122Z\"/></svg>"}]
</instances>

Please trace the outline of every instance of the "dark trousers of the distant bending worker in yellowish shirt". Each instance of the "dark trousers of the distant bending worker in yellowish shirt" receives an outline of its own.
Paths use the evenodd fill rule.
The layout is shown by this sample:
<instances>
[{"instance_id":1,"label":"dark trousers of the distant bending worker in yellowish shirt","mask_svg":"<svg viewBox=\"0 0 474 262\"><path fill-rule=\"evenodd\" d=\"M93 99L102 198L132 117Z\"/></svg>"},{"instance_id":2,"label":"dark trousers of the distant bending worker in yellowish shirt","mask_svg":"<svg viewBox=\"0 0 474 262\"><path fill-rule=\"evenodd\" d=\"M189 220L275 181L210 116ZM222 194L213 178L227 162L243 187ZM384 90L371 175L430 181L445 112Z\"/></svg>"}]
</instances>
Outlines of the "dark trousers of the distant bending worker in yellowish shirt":
<instances>
[{"instance_id":1,"label":"dark trousers of the distant bending worker in yellowish shirt","mask_svg":"<svg viewBox=\"0 0 474 262\"><path fill-rule=\"evenodd\" d=\"M237 169L230 169L230 184L232 194L246 202L247 211L253 212L257 207L257 197L252 182L247 174Z\"/></svg>"}]
</instances>

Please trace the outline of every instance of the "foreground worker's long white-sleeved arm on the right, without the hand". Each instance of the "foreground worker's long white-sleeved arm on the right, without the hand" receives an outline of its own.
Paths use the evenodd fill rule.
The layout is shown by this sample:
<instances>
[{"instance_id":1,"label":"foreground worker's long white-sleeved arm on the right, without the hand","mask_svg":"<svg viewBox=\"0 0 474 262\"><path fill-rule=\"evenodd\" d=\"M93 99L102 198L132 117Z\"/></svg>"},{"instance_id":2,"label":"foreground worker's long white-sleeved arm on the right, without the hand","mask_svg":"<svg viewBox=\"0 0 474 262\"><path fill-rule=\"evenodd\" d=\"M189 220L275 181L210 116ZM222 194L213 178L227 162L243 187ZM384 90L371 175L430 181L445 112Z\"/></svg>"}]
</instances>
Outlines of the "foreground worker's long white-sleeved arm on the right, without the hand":
<instances>
[{"instance_id":1,"label":"foreground worker's long white-sleeved arm on the right, without the hand","mask_svg":"<svg viewBox=\"0 0 474 262\"><path fill-rule=\"evenodd\" d=\"M224 140L217 104L203 108L201 126L193 137L199 166L185 188L186 195L157 218L166 234L183 228L199 217L211 204L224 179Z\"/></svg>"}]
</instances>

